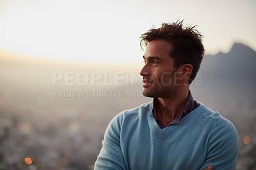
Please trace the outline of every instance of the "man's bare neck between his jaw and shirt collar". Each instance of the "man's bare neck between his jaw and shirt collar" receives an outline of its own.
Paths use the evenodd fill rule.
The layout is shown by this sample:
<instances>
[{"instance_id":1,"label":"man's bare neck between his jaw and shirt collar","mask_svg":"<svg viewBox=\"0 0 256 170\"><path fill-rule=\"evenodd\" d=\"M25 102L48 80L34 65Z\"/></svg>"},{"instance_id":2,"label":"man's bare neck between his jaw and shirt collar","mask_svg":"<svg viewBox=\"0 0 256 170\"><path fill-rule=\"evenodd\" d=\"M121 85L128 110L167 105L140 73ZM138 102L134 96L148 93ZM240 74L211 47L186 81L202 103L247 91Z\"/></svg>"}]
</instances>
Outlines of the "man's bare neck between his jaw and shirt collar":
<instances>
[{"instance_id":1,"label":"man's bare neck between his jaw and shirt collar","mask_svg":"<svg viewBox=\"0 0 256 170\"><path fill-rule=\"evenodd\" d=\"M157 118L163 122L164 127L182 113L186 100L188 98L188 89L173 94L170 98L157 98Z\"/></svg>"}]
</instances>

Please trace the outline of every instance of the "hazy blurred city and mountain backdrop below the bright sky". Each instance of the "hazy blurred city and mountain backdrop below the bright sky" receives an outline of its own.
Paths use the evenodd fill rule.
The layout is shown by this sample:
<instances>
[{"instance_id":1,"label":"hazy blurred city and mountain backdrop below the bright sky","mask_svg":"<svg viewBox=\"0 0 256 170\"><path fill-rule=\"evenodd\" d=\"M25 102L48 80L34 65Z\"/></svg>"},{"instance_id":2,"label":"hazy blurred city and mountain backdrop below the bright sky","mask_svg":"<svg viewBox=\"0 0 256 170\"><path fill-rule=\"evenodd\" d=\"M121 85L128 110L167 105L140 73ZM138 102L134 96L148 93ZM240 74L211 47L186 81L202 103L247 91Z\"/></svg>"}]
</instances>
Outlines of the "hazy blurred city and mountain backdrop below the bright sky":
<instances>
[{"instance_id":1,"label":"hazy blurred city and mountain backdrop below the bright sky","mask_svg":"<svg viewBox=\"0 0 256 170\"><path fill-rule=\"evenodd\" d=\"M236 43L205 56L191 85L237 128L237 169L256 169L255 61ZM111 118L152 100L141 95L139 66L29 62L0 61L0 169L93 169Z\"/></svg>"}]
</instances>

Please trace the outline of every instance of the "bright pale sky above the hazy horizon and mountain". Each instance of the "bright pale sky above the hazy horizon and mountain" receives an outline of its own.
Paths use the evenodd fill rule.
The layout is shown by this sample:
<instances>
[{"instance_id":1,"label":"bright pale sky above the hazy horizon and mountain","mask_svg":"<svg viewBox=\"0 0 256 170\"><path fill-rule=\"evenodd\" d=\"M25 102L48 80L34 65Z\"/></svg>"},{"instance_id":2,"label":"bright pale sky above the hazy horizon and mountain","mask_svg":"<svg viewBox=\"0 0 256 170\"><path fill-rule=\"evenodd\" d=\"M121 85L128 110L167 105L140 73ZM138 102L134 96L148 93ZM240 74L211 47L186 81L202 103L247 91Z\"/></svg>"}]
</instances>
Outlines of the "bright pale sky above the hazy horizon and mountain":
<instances>
[{"instance_id":1,"label":"bright pale sky above the hazy horizon and mountain","mask_svg":"<svg viewBox=\"0 0 256 170\"><path fill-rule=\"evenodd\" d=\"M256 1L0 0L0 51L73 61L142 61L140 35L184 20L206 54L235 42L256 50Z\"/></svg>"}]
</instances>

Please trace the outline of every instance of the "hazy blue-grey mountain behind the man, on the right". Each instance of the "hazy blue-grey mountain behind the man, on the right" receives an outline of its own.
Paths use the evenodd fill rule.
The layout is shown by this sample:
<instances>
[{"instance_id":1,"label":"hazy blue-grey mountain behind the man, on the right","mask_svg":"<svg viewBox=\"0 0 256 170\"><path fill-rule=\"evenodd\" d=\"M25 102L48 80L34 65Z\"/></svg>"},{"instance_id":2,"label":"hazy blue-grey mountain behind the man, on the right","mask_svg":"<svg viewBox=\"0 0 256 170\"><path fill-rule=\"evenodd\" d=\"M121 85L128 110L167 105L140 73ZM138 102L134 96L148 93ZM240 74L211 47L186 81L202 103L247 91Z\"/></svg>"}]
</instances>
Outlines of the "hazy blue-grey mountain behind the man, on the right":
<instances>
[{"instance_id":1,"label":"hazy blue-grey mountain behind the man, on the right","mask_svg":"<svg viewBox=\"0 0 256 170\"><path fill-rule=\"evenodd\" d=\"M199 70L203 85L192 89L195 89L196 93L211 93L212 98L216 100L243 100L254 105L255 63L255 50L241 43L234 43L226 54L219 52L216 55L204 56Z\"/></svg>"}]
</instances>

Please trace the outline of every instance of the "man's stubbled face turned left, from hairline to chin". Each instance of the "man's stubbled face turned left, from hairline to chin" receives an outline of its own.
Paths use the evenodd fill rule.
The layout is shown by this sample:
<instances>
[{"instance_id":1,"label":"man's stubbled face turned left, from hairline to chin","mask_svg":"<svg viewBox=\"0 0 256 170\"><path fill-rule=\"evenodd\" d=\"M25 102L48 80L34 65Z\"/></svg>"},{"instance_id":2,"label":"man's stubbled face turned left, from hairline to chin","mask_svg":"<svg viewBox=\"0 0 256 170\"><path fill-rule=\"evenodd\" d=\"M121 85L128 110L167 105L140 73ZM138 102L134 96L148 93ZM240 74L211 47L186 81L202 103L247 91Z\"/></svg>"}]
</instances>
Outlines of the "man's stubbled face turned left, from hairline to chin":
<instances>
[{"instance_id":1,"label":"man's stubbled face turned left, from hairline to chin","mask_svg":"<svg viewBox=\"0 0 256 170\"><path fill-rule=\"evenodd\" d=\"M175 92L173 58L169 56L172 48L163 40L148 43L143 58L145 66L141 69L143 76L143 95L145 97L170 98Z\"/></svg>"}]
</instances>

